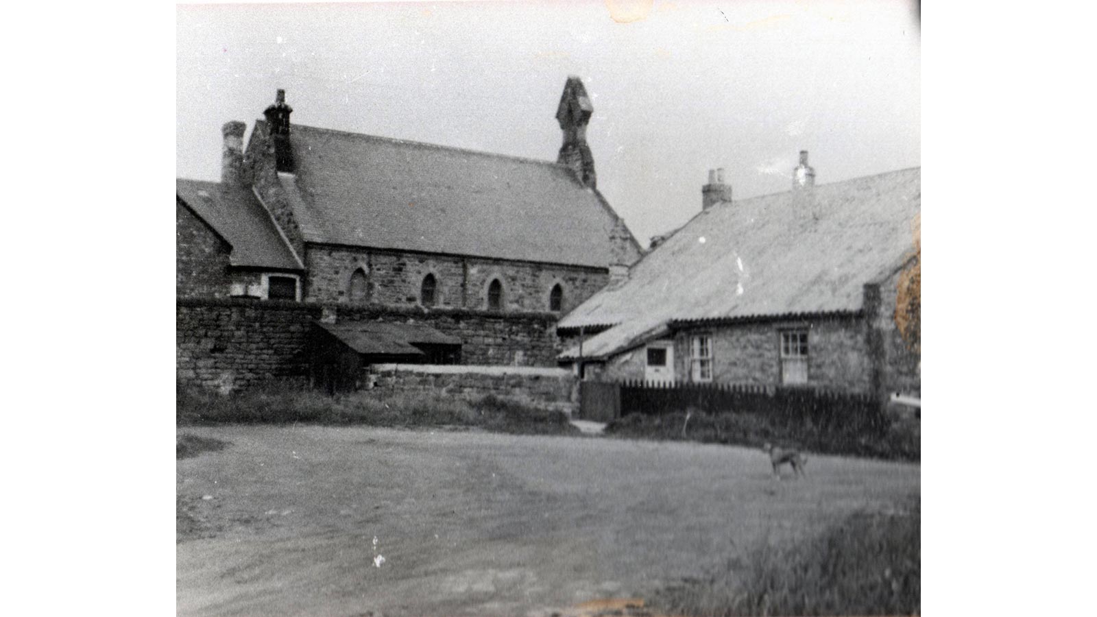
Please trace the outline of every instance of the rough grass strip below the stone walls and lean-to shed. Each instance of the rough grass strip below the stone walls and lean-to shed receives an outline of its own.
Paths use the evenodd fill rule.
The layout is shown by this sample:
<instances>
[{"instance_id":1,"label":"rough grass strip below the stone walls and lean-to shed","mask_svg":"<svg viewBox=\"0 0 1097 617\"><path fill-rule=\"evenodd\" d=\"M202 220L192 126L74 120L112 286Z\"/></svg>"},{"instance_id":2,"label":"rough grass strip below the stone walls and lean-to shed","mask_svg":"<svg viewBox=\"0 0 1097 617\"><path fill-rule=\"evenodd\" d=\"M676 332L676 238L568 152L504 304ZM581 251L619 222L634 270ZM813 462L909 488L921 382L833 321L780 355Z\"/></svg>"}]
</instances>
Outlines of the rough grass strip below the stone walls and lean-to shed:
<instances>
[{"instance_id":1,"label":"rough grass strip below the stone walls and lean-to shed","mask_svg":"<svg viewBox=\"0 0 1097 617\"><path fill-rule=\"evenodd\" d=\"M176 420L191 424L324 424L370 426L468 426L530 435L577 435L567 416L521 401L486 395L464 400L443 394L363 391L328 396L268 386L223 396L178 388Z\"/></svg>"}]
</instances>

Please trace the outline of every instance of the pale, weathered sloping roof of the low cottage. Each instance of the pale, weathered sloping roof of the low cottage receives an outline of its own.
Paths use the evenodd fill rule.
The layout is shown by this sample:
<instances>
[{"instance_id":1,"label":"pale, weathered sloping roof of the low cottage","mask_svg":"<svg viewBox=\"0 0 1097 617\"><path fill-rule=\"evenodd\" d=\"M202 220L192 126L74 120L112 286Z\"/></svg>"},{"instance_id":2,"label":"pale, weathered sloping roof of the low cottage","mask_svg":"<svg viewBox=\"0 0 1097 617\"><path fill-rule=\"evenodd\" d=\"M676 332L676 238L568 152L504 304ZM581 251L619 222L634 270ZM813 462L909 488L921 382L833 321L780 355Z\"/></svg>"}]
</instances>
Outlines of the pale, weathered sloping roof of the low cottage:
<instances>
[{"instance_id":1,"label":"pale, weathered sloping roof of the low cottage","mask_svg":"<svg viewBox=\"0 0 1097 617\"><path fill-rule=\"evenodd\" d=\"M920 168L717 203L558 327L618 324L584 343L584 357L604 357L670 321L859 311L863 285L913 253L920 207Z\"/></svg>"}]
</instances>

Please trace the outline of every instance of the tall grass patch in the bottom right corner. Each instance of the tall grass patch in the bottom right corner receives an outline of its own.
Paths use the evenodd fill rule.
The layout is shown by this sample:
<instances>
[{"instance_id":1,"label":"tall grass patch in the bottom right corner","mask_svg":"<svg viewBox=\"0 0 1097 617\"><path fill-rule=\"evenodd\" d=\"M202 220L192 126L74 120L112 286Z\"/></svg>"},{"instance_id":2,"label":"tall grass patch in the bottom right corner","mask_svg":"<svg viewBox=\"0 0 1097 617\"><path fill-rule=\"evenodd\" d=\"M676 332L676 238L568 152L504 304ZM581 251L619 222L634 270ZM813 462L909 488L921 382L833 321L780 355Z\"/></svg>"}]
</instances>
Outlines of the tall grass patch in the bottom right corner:
<instances>
[{"instance_id":1,"label":"tall grass patch in the bottom right corner","mask_svg":"<svg viewBox=\"0 0 1097 617\"><path fill-rule=\"evenodd\" d=\"M918 503L858 513L805 541L762 545L705 580L664 591L672 615L917 615L921 610Z\"/></svg>"}]
</instances>

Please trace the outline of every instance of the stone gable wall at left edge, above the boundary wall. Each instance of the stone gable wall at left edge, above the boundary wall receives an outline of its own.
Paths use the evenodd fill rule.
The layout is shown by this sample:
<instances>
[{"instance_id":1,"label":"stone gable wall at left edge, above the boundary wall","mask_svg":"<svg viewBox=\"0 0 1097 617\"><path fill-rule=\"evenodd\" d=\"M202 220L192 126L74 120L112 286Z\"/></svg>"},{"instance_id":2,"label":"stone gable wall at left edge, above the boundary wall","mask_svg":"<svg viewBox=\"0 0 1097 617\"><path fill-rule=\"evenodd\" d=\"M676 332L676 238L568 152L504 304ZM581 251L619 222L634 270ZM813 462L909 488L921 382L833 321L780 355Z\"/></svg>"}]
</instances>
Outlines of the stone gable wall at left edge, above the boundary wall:
<instances>
[{"instance_id":1,"label":"stone gable wall at left edge, above the boundary wall","mask_svg":"<svg viewBox=\"0 0 1097 617\"><path fill-rule=\"evenodd\" d=\"M228 295L229 251L228 243L176 200L176 295Z\"/></svg>"}]
</instances>

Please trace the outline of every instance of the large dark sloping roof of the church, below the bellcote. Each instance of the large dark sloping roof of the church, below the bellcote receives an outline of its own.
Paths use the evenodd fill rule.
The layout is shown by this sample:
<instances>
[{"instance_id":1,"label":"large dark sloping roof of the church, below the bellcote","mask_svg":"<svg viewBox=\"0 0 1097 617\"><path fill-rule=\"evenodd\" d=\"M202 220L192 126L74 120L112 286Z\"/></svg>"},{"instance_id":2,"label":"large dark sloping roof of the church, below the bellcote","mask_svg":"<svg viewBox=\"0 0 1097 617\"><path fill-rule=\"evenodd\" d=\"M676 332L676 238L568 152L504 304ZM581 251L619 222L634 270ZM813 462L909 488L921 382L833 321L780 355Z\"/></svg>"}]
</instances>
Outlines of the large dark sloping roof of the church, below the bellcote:
<instances>
[{"instance_id":1,"label":"large dark sloping roof of the church, below the bellcote","mask_svg":"<svg viewBox=\"0 0 1097 617\"><path fill-rule=\"evenodd\" d=\"M609 266L617 216L563 165L298 124L290 138L305 242Z\"/></svg>"}]
</instances>

